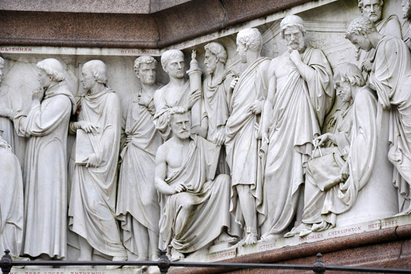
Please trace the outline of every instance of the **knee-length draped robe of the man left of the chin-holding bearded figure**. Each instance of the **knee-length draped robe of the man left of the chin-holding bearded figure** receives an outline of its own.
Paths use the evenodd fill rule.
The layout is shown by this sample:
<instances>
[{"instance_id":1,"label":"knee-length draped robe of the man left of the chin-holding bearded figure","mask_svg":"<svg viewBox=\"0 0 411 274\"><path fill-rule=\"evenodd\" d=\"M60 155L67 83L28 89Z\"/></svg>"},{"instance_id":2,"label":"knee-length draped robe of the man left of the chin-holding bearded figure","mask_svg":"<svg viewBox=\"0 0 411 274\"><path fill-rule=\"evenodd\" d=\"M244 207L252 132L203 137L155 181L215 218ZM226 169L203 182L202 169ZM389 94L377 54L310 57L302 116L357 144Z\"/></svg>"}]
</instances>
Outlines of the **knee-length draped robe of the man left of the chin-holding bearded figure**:
<instances>
[{"instance_id":1,"label":"knee-length draped robe of the man left of the chin-holding bearded figure","mask_svg":"<svg viewBox=\"0 0 411 274\"><path fill-rule=\"evenodd\" d=\"M236 216L236 222L240 225L243 225L244 220L235 186L250 185L251 194L256 199L260 199L262 192L261 182L257 179L260 114L253 114L250 108L254 101L266 99L269 86L266 74L269 64L269 58L259 58L242 73L233 90L231 114L225 127L227 163L232 171L230 212Z\"/></svg>"}]
</instances>

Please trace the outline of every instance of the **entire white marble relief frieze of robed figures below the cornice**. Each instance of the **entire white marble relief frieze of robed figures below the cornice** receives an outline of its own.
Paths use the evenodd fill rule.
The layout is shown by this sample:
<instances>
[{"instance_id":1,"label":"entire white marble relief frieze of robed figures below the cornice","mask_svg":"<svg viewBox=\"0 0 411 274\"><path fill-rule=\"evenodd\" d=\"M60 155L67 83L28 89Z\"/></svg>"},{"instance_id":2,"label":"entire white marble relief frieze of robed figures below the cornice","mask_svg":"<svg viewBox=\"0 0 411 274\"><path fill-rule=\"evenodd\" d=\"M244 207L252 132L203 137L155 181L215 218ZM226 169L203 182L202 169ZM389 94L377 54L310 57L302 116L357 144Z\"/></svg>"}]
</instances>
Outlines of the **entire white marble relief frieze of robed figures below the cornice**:
<instances>
[{"instance_id":1,"label":"entire white marble relief frieze of robed figures below the cornice","mask_svg":"<svg viewBox=\"0 0 411 274\"><path fill-rule=\"evenodd\" d=\"M242 255L411 214L411 0L401 19L394 0L314 2L302 10L322 6L318 21L278 13L171 50L107 49L104 62L88 61L95 49L4 53L0 249L30 260ZM327 7L353 12L334 21ZM52 52L62 61L42 60ZM143 52L162 53L165 73Z\"/></svg>"}]
</instances>

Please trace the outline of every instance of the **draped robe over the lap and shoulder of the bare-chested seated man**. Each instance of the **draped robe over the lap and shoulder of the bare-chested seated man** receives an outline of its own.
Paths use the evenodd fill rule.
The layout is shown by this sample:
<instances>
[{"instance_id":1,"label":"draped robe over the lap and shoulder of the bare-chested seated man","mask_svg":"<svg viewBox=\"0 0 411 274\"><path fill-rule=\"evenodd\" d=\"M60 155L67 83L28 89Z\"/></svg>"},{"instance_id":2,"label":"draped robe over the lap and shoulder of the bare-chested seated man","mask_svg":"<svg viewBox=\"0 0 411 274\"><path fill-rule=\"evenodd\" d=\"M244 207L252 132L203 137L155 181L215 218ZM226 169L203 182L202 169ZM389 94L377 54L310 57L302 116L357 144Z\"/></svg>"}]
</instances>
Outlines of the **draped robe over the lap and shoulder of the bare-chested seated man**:
<instances>
[{"instance_id":1,"label":"draped robe over the lap and shoulder of the bare-chested seated man","mask_svg":"<svg viewBox=\"0 0 411 274\"><path fill-rule=\"evenodd\" d=\"M171 187L184 182L187 190L160 194L160 249L181 253L205 247L230 224L229 176L210 174L218 147L200 136L190 138L182 166L164 179Z\"/></svg>"}]
</instances>

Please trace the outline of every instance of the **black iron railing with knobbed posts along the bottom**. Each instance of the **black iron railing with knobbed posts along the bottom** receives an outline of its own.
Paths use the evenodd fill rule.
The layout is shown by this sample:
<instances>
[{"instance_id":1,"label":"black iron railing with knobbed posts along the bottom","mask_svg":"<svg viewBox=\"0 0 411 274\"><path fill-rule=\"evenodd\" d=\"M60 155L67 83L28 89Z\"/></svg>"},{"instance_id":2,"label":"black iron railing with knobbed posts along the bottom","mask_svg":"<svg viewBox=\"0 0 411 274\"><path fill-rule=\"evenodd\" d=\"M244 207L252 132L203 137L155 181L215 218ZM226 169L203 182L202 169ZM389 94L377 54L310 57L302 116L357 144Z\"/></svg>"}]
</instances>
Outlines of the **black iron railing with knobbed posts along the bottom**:
<instances>
[{"instance_id":1,"label":"black iron railing with knobbed posts along the bottom","mask_svg":"<svg viewBox=\"0 0 411 274\"><path fill-rule=\"evenodd\" d=\"M361 273L411 273L411 269L388 269L378 267L357 266L327 266L321 253L316 255L312 265L304 264L248 264L248 263L220 263L220 262L171 262L163 251L158 261L13 261L10 251L4 251L5 255L0 260L3 274L9 274L12 266L158 266L162 274L168 273L171 266L174 267L206 267L225 268L229 271L240 269L284 269L294 271L311 270L315 274L323 274L325 271L349 271Z\"/></svg>"}]
</instances>

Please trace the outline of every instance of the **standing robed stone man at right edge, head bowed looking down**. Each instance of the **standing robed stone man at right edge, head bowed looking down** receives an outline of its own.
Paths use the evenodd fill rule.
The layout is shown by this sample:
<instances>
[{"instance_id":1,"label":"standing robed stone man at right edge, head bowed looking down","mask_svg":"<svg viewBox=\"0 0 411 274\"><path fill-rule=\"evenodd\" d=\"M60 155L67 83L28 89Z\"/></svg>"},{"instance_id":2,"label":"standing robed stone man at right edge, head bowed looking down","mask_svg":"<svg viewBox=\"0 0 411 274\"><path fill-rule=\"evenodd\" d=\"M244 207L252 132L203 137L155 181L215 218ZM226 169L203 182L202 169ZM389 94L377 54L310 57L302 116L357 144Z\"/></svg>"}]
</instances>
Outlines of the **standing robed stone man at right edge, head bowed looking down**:
<instances>
[{"instance_id":1,"label":"standing robed stone man at right edge, head bowed looking down","mask_svg":"<svg viewBox=\"0 0 411 274\"><path fill-rule=\"evenodd\" d=\"M393 182L399 191L400 214L411 213L411 53L405 42L377 32L368 18L354 19L345 34L353 45L375 49L370 85L377 90L378 102L390 108L388 159L395 166Z\"/></svg>"}]
</instances>

